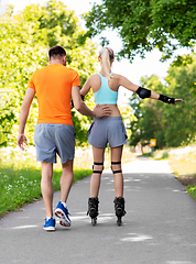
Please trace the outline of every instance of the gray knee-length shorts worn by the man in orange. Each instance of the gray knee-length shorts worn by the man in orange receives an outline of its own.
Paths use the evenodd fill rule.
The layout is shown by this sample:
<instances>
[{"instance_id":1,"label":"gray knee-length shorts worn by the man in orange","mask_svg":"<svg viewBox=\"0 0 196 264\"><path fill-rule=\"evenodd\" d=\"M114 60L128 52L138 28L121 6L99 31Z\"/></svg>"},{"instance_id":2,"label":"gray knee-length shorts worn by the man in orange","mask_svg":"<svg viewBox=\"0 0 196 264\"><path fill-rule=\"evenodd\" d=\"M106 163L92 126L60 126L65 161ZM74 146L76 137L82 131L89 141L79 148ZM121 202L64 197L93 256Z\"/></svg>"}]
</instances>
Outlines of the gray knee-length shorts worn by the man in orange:
<instances>
[{"instance_id":1,"label":"gray knee-length shorts worn by the man in orange","mask_svg":"<svg viewBox=\"0 0 196 264\"><path fill-rule=\"evenodd\" d=\"M35 127L34 141L36 161L56 163L56 154L62 163L74 160L76 132L73 125L39 123Z\"/></svg>"}]
</instances>

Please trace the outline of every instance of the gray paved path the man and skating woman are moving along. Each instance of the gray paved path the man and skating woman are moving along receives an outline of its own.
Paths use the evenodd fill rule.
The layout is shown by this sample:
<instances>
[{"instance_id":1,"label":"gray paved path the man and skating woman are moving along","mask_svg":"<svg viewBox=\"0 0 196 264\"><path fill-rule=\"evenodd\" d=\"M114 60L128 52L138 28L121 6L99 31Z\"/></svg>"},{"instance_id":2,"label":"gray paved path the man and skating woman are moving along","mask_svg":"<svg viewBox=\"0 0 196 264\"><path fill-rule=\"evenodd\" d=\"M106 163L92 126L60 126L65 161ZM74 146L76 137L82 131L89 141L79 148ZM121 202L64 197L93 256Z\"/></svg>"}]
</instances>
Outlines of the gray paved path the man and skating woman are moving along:
<instances>
[{"instance_id":1,"label":"gray paved path the man and skating woman are moving along","mask_svg":"<svg viewBox=\"0 0 196 264\"><path fill-rule=\"evenodd\" d=\"M113 183L102 175L100 216L86 216L90 177L73 185L73 226L42 230L43 200L0 220L2 264L196 264L196 202L165 161L140 158L123 165L127 216L116 224ZM55 193L54 205L59 193Z\"/></svg>"}]
</instances>

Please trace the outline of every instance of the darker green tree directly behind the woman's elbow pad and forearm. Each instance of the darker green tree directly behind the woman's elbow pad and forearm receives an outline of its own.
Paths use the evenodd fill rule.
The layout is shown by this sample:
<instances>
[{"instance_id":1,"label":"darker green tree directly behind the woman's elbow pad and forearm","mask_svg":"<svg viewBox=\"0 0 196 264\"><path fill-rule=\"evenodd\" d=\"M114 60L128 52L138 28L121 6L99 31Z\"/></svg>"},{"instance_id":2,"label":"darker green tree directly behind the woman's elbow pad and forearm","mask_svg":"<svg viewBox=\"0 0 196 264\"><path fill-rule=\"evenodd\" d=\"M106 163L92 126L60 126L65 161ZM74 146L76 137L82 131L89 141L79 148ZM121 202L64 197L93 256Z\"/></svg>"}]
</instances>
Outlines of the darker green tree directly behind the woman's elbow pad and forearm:
<instances>
[{"instance_id":1,"label":"darker green tree directly behind the woman's elbow pad and forearm","mask_svg":"<svg viewBox=\"0 0 196 264\"><path fill-rule=\"evenodd\" d=\"M163 85L157 76L152 75L150 78L141 78L141 82L142 86L157 94L163 91ZM140 142L142 146L145 146L151 139L156 139L157 147L165 146L164 136L161 140L157 139L157 134L163 132L162 103L152 99L141 100L134 94L130 99L130 105L134 109L133 112L137 117L137 120L130 122L130 130L132 131L130 145L135 146Z\"/></svg>"}]
</instances>

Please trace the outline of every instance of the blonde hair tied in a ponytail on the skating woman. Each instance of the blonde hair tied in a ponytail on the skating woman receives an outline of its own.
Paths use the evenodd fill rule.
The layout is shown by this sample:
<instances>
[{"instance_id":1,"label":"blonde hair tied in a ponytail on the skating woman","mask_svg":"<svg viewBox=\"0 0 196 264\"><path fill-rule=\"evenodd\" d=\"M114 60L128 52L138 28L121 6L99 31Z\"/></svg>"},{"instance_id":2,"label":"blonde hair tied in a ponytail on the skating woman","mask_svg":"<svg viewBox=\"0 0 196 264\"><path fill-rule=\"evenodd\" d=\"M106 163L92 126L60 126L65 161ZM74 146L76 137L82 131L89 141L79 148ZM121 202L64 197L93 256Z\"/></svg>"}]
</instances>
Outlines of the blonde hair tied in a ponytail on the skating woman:
<instances>
[{"instance_id":1,"label":"blonde hair tied in a ponytail on the skating woman","mask_svg":"<svg viewBox=\"0 0 196 264\"><path fill-rule=\"evenodd\" d=\"M100 57L101 69L104 74L108 79L110 79L111 64L115 57L113 51L110 47L102 47L99 52L99 57Z\"/></svg>"}]
</instances>

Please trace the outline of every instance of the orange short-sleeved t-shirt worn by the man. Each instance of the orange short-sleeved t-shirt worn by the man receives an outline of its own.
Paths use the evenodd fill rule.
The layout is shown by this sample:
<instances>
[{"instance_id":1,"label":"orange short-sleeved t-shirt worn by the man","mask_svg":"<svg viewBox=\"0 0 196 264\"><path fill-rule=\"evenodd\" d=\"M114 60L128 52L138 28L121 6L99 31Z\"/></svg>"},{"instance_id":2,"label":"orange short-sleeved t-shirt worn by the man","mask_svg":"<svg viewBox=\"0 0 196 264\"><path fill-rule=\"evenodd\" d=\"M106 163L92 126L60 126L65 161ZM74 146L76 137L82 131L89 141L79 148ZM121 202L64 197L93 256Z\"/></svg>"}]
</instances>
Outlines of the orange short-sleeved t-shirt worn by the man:
<instances>
[{"instance_id":1,"label":"orange short-sleeved t-shirt worn by the man","mask_svg":"<svg viewBox=\"0 0 196 264\"><path fill-rule=\"evenodd\" d=\"M73 125L70 114L73 86L80 87L78 73L61 64L48 65L32 75L28 87L36 91L37 123Z\"/></svg>"}]
</instances>

